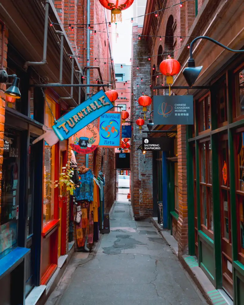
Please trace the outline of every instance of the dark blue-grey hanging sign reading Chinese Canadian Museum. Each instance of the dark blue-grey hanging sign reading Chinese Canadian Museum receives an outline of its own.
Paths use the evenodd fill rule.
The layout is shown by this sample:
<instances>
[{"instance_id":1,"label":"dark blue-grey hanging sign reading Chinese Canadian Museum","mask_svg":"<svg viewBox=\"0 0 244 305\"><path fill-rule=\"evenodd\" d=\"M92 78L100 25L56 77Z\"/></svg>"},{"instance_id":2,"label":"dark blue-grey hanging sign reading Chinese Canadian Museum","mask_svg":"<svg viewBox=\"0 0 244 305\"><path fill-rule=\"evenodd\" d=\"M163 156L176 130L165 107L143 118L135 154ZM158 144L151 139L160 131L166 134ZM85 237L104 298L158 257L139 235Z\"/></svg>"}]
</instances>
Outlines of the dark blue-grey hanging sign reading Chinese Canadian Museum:
<instances>
[{"instance_id":1,"label":"dark blue-grey hanging sign reading Chinese Canadian Museum","mask_svg":"<svg viewBox=\"0 0 244 305\"><path fill-rule=\"evenodd\" d=\"M154 95L154 125L192 125L192 95Z\"/></svg>"}]
</instances>

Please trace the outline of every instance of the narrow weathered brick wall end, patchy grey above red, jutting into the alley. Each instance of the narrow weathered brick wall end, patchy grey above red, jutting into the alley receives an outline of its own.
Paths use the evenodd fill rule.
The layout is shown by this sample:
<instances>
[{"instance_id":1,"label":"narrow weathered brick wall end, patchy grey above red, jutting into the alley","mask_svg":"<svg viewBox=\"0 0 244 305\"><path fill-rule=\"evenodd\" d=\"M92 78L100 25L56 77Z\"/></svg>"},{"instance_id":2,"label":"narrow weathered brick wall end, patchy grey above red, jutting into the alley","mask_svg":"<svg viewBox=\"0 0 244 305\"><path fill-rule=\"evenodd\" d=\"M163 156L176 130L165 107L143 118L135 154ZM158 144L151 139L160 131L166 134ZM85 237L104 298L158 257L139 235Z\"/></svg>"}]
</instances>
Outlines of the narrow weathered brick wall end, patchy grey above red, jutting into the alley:
<instances>
[{"instance_id":1,"label":"narrow weathered brick wall end, patchy grey above red, jutting into the alley","mask_svg":"<svg viewBox=\"0 0 244 305\"><path fill-rule=\"evenodd\" d=\"M133 98L131 108L135 120L140 116L142 107L138 105L138 98L144 94L151 96L150 90L150 62L147 58L139 58L149 54L147 42L142 38L138 40L138 34L142 33L142 28L133 27L132 41L132 83L131 87ZM137 69L139 66L139 69ZM143 81L141 81L141 78ZM139 87L137 87L139 85ZM142 114L141 114L142 117ZM148 130L146 120L142 130ZM138 135L138 140L135 139ZM145 134L144 134L145 135ZM152 216L152 153L146 152L142 154L141 150L137 150L142 144L143 134L139 132L139 127L134 123L131 141L131 204L134 210L135 219L146 218Z\"/></svg>"}]
</instances>

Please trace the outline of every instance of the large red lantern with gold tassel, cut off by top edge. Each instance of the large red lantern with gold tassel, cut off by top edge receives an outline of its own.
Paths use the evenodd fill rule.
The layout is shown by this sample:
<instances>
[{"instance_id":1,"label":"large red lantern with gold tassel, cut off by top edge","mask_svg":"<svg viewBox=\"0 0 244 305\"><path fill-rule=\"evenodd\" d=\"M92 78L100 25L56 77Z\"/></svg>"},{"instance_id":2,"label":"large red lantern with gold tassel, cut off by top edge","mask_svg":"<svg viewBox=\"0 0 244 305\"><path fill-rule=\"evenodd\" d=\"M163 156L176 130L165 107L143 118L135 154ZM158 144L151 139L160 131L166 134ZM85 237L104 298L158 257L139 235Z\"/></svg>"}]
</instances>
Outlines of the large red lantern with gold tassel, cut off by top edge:
<instances>
[{"instance_id":1,"label":"large red lantern with gold tassel, cut off by top edge","mask_svg":"<svg viewBox=\"0 0 244 305\"><path fill-rule=\"evenodd\" d=\"M111 21L113 23L122 21L121 11L131 6L134 0L99 0L106 9L111 10Z\"/></svg>"}]
</instances>

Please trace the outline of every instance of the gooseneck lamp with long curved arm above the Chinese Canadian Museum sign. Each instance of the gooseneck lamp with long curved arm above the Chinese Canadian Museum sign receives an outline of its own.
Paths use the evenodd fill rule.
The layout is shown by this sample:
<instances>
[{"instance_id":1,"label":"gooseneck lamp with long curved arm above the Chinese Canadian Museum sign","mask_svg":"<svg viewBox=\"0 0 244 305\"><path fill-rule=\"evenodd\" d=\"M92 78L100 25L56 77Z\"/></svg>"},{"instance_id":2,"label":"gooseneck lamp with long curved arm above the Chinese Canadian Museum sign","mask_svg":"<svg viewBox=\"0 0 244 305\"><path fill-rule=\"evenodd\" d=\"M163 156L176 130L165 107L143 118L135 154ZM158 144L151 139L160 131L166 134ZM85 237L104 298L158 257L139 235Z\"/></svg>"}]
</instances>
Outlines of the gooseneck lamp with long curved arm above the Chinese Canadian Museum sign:
<instances>
[{"instance_id":1,"label":"gooseneck lamp with long curved arm above the Chinese Canadian Museum sign","mask_svg":"<svg viewBox=\"0 0 244 305\"><path fill-rule=\"evenodd\" d=\"M212 41L213 43L215 43L216 45L219 45L221 46L222 48L230 51L230 52L233 52L233 53L244 53L244 50L232 50L230 48L228 48L227 46L225 45L222 45L222 43L214 40L213 38L210 38L208 36L199 36L199 37L196 37L195 39L192 40L191 44L190 44L190 58L188 59L188 67L185 68L183 70L183 75L185 77L185 80L187 81L187 84L192 87L192 85L195 83L197 77L199 76L203 66L198 66L196 67L195 66L195 60L192 56L192 47L193 47L193 44L195 41L199 40L199 39L207 39L209 41Z\"/></svg>"}]
</instances>

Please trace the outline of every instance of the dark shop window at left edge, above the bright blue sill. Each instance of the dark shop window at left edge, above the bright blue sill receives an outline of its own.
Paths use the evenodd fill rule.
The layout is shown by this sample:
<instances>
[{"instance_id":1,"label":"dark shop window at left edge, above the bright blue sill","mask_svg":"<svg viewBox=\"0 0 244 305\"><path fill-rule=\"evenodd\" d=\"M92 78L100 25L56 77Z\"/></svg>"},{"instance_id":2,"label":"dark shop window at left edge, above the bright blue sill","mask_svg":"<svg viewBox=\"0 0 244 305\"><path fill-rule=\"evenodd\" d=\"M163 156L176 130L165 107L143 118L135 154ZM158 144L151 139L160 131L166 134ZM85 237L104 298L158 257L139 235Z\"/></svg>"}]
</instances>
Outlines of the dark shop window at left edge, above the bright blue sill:
<instances>
[{"instance_id":1,"label":"dark shop window at left edge, above the bright blue sill","mask_svg":"<svg viewBox=\"0 0 244 305\"><path fill-rule=\"evenodd\" d=\"M0 204L0 256L17 243L19 218L20 136L16 130L4 133Z\"/></svg>"}]
</instances>

